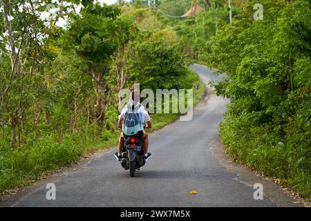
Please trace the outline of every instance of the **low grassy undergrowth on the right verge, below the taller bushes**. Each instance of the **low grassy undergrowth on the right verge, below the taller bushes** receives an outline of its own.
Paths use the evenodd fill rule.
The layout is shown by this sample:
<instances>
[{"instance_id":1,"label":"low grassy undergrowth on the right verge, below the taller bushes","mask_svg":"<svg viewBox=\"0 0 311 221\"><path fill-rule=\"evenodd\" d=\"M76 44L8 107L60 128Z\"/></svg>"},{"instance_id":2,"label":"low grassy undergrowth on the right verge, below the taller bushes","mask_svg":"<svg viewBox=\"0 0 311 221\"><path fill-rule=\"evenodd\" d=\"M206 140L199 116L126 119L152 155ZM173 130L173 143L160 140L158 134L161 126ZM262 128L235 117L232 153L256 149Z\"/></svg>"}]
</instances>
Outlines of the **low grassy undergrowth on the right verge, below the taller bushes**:
<instances>
[{"instance_id":1,"label":"low grassy undergrowth on the right verge, below the taller bushes","mask_svg":"<svg viewBox=\"0 0 311 221\"><path fill-rule=\"evenodd\" d=\"M220 137L238 162L278 177L303 198L311 199L310 140L294 125L288 133L273 133L273 125L256 126L244 116L227 115L220 123Z\"/></svg>"}]
</instances>

